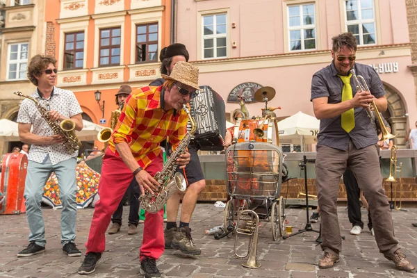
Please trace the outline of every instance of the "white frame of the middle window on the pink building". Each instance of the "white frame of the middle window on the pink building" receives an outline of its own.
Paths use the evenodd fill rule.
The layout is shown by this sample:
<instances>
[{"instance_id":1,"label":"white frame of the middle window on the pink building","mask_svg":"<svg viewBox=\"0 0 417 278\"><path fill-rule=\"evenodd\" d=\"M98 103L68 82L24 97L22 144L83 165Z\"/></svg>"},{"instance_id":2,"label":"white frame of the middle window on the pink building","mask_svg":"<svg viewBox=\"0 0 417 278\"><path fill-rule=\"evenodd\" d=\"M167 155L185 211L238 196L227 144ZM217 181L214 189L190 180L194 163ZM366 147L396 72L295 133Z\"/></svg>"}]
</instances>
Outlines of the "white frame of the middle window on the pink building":
<instances>
[{"instance_id":1,"label":"white frame of the middle window on the pink building","mask_svg":"<svg viewBox=\"0 0 417 278\"><path fill-rule=\"evenodd\" d=\"M303 6L307 6L307 5L313 5L314 24L304 25L304 22L303 22L304 15L303 15L302 7ZM295 7L295 6L298 6L300 8L300 25L298 25L298 26L290 26L290 8L291 7ZM300 4L297 4L297 5L288 5L287 6L287 15L288 15L287 16L288 51L296 52L296 51L314 51L314 50L317 50L317 42L318 42L318 40L317 40L317 26L316 26L316 23L317 23L317 18L318 17L316 15L316 3L315 2L312 2L312 3L300 3ZM311 49L306 49L305 48L305 45L304 45L304 40L305 40L305 38L304 38L304 30L307 30L307 29L313 29L314 30L314 45L316 47L311 48ZM300 33L301 33L301 36L300 36L301 49L295 49L295 50L292 50L291 49L291 31L300 31Z\"/></svg>"}]
</instances>

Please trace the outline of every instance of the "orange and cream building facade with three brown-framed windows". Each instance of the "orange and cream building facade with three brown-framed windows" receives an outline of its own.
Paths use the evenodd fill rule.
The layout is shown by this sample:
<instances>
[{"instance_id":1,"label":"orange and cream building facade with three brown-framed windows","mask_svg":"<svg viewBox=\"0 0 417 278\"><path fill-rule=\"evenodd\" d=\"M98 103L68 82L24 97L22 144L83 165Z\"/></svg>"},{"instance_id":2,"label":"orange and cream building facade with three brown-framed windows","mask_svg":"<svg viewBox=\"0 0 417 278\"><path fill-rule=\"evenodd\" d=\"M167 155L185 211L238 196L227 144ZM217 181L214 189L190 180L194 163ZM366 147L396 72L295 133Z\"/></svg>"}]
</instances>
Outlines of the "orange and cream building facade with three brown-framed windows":
<instances>
[{"instance_id":1,"label":"orange and cream building facade with three brown-framed windows","mask_svg":"<svg viewBox=\"0 0 417 278\"><path fill-rule=\"evenodd\" d=\"M51 1L44 19L45 52L58 60L56 86L74 92L85 120L108 126L120 85L135 89L160 76L171 1Z\"/></svg>"}]
</instances>

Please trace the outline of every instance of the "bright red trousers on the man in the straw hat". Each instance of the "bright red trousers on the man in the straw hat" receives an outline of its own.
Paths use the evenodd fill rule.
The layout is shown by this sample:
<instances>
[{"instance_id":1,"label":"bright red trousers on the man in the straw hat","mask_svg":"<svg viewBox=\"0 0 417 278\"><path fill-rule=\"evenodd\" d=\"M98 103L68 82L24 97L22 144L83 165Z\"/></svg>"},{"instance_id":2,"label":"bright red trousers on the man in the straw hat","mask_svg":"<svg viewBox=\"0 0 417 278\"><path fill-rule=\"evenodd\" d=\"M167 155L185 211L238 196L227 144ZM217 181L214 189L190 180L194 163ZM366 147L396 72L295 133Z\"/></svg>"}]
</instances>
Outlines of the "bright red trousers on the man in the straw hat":
<instances>
[{"instance_id":1,"label":"bright red trousers on the man in the straw hat","mask_svg":"<svg viewBox=\"0 0 417 278\"><path fill-rule=\"evenodd\" d=\"M161 171L162 167L163 156L161 154L145 170L153 177L156 172ZM110 149L106 149L99 182L100 199L96 203L92 215L90 234L87 243L85 243L86 253L104 252L106 248L105 235L111 215L116 211L132 179L133 174L124 164L122 158L113 154ZM158 259L163 253L164 246L163 208L155 214L145 213L142 246L139 253L140 261L145 257Z\"/></svg>"}]
</instances>

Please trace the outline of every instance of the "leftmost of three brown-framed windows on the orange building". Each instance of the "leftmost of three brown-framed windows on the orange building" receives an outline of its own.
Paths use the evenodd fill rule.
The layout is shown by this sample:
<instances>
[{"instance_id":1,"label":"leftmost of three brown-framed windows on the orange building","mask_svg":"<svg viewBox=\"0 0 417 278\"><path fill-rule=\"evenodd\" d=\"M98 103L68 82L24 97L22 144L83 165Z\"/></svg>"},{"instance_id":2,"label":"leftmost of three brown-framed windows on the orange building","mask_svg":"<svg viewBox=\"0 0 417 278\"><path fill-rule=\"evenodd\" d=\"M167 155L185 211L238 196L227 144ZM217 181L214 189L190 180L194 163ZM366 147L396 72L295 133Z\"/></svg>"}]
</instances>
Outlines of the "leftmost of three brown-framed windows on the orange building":
<instances>
[{"instance_id":1,"label":"leftmost of three brown-framed windows on the orange building","mask_svg":"<svg viewBox=\"0 0 417 278\"><path fill-rule=\"evenodd\" d=\"M66 33L64 69L82 68L84 65L84 32Z\"/></svg>"}]
</instances>

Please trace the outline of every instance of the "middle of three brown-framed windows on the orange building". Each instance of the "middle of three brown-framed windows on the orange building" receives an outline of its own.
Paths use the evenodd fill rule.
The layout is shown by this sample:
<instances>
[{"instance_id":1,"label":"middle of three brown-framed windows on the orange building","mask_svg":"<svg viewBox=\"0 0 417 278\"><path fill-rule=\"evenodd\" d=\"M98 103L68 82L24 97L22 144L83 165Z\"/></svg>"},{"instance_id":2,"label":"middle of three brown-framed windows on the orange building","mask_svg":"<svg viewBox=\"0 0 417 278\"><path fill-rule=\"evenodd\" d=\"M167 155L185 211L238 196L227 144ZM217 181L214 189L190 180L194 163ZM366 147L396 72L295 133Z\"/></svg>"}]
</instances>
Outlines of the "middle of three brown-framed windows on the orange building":
<instances>
[{"instance_id":1,"label":"middle of three brown-framed windows on the orange building","mask_svg":"<svg viewBox=\"0 0 417 278\"><path fill-rule=\"evenodd\" d=\"M100 29L99 66L120 65L120 27Z\"/></svg>"}]
</instances>

